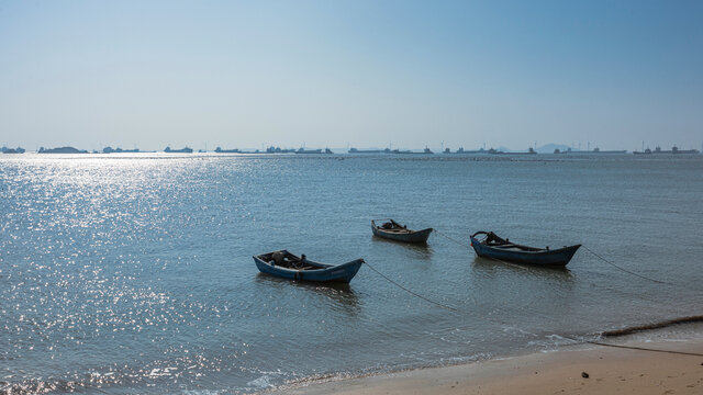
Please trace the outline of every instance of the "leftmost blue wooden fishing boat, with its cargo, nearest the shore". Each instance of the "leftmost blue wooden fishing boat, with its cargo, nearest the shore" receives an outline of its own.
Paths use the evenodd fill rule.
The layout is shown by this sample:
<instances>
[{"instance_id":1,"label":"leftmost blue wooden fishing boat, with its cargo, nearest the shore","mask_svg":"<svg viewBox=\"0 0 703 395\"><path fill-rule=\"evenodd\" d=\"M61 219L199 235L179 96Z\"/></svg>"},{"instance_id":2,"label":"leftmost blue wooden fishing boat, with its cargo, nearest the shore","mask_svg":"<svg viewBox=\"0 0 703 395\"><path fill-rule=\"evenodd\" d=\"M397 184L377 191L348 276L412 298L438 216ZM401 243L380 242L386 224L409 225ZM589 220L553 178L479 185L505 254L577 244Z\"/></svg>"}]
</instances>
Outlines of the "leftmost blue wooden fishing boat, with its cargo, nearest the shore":
<instances>
[{"instance_id":1,"label":"leftmost blue wooden fishing boat, with its cargo, nearest the shore","mask_svg":"<svg viewBox=\"0 0 703 395\"><path fill-rule=\"evenodd\" d=\"M364 259L334 266L280 250L254 256L254 262L261 273L283 279L348 283L364 264Z\"/></svg>"}]
</instances>

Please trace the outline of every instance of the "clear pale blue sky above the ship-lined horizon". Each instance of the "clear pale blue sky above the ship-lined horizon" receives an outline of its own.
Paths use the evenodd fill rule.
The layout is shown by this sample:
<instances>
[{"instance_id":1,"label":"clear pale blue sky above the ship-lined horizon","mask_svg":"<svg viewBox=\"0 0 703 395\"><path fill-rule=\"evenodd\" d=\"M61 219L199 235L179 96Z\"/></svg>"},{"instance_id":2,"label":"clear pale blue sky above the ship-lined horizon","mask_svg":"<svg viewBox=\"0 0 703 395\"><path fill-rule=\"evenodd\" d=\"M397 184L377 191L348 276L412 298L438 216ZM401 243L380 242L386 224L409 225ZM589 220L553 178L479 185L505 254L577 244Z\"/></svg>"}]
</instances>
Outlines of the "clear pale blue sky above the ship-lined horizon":
<instances>
[{"instance_id":1,"label":"clear pale blue sky above the ship-lined horizon","mask_svg":"<svg viewBox=\"0 0 703 395\"><path fill-rule=\"evenodd\" d=\"M0 145L701 149L702 1L4 1Z\"/></svg>"}]
</instances>

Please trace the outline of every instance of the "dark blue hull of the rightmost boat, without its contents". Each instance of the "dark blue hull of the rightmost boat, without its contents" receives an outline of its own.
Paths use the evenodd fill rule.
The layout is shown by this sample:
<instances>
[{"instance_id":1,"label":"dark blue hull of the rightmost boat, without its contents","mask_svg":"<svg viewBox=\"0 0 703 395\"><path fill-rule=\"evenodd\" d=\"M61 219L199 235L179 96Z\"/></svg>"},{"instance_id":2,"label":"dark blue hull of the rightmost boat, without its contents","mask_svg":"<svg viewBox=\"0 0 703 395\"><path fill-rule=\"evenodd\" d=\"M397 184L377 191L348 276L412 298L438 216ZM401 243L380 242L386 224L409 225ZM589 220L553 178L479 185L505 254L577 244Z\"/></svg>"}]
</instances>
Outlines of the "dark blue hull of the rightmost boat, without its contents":
<instances>
[{"instance_id":1,"label":"dark blue hull of the rightmost boat, without its contents","mask_svg":"<svg viewBox=\"0 0 703 395\"><path fill-rule=\"evenodd\" d=\"M479 257L521 264L565 267L569 263L581 245L559 248L555 250L515 251L487 246L475 237L471 237L471 247L473 247L476 255Z\"/></svg>"}]
</instances>

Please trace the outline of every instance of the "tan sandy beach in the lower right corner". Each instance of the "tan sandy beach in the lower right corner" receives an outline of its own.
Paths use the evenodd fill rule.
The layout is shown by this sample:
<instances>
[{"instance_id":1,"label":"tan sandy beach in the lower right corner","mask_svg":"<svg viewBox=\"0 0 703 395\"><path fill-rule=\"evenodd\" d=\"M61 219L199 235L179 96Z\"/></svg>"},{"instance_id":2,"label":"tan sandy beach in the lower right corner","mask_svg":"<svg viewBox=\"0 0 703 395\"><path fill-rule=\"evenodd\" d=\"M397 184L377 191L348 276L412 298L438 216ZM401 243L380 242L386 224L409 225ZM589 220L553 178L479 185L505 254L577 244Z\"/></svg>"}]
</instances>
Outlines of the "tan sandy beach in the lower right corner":
<instances>
[{"instance_id":1,"label":"tan sandy beach in the lower right corner","mask_svg":"<svg viewBox=\"0 0 703 395\"><path fill-rule=\"evenodd\" d=\"M701 340L620 343L703 354ZM702 394L703 357L601 346L330 382L276 394Z\"/></svg>"}]
</instances>

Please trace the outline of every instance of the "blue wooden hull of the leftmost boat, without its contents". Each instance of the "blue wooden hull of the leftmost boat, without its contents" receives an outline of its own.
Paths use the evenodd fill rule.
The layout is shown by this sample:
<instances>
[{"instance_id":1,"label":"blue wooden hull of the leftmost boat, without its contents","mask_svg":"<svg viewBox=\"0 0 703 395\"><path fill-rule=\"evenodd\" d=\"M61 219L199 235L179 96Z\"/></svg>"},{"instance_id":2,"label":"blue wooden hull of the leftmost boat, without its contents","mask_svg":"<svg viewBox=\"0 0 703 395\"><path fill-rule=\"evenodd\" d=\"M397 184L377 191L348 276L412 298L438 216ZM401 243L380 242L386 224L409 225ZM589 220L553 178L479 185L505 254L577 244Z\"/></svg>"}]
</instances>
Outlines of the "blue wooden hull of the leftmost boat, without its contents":
<instances>
[{"instance_id":1,"label":"blue wooden hull of the leftmost boat, without its contents","mask_svg":"<svg viewBox=\"0 0 703 395\"><path fill-rule=\"evenodd\" d=\"M293 281L341 282L349 283L364 264L362 259L343 264L326 264L306 260L309 264L319 267L314 270L295 270L266 262L260 256L254 256L254 262L261 273L276 275Z\"/></svg>"}]
</instances>

